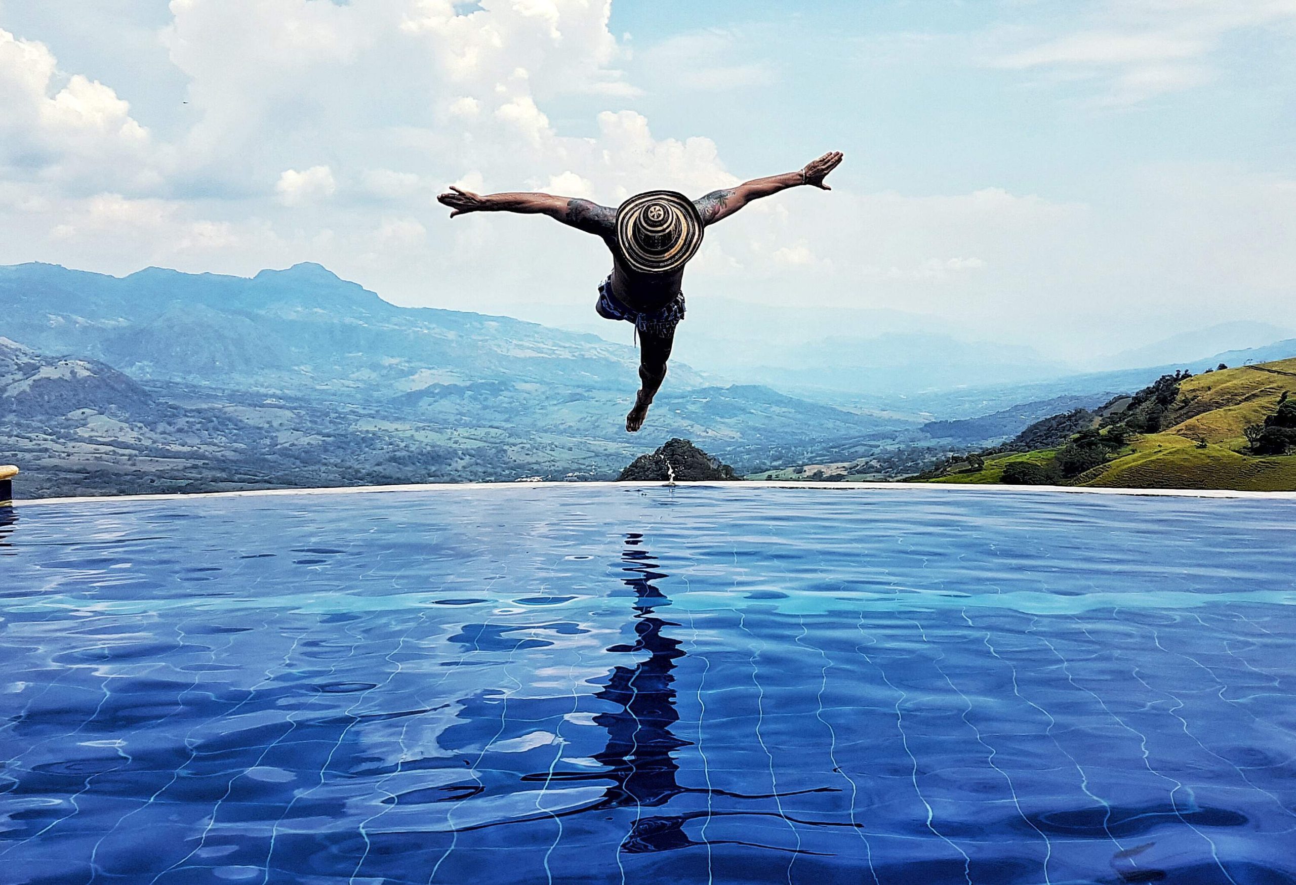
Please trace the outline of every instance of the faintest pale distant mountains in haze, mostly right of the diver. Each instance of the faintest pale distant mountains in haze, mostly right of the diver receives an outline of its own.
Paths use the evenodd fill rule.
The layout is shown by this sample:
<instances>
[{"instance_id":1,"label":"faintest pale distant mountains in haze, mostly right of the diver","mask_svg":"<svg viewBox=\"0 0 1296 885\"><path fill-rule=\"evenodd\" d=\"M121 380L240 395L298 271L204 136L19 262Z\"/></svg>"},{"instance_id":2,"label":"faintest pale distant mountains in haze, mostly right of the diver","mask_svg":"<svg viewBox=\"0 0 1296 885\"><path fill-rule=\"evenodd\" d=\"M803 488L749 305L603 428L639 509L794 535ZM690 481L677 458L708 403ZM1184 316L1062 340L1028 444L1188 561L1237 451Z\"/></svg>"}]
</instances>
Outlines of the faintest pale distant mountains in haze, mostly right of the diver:
<instances>
[{"instance_id":1,"label":"faintest pale distant mountains in haze, mostly right of the diver","mask_svg":"<svg viewBox=\"0 0 1296 885\"><path fill-rule=\"evenodd\" d=\"M587 307L515 307L520 316L612 339L618 339L622 330ZM1181 321L1191 319L1183 316ZM1296 330L1271 323L1234 320L1178 332L1135 349L1061 359L1023 343L981 339L931 314L867 307L811 310L797 305L796 298L788 305L753 305L717 295L689 299L683 332L675 342L675 356L709 376L767 384L828 403L898 399L905 400L898 404L902 409L919 403L920 411L940 411L942 394L954 389L1011 389L1098 372L1186 365L1296 338ZM1004 406L1015 402L1020 399Z\"/></svg>"}]
</instances>

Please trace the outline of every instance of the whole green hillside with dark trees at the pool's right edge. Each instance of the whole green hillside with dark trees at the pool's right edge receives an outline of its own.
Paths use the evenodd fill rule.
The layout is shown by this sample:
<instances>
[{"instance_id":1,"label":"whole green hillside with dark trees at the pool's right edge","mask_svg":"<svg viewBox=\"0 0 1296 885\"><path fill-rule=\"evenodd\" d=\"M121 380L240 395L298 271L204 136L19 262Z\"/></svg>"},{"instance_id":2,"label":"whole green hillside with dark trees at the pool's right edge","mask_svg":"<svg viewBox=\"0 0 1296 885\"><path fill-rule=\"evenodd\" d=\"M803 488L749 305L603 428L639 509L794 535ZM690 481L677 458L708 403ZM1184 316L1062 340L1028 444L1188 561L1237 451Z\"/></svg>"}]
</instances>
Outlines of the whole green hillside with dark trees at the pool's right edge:
<instances>
[{"instance_id":1,"label":"whole green hillside with dark trees at the pool's right edge","mask_svg":"<svg viewBox=\"0 0 1296 885\"><path fill-rule=\"evenodd\" d=\"M980 456L953 459L915 479L1296 491L1296 446L1287 446L1286 454L1261 455L1247 437L1248 428L1255 434L1266 419L1274 424L1273 416L1288 395L1296 400L1296 359L1182 378L1165 376L1095 411L1090 426L1060 444L1006 451L1012 448L1008 443ZM1292 407L1284 408L1290 413ZM1028 428L1021 437L1029 438L1030 431ZM1283 433L1296 438L1296 430ZM1282 444L1278 451L1283 451Z\"/></svg>"}]
</instances>

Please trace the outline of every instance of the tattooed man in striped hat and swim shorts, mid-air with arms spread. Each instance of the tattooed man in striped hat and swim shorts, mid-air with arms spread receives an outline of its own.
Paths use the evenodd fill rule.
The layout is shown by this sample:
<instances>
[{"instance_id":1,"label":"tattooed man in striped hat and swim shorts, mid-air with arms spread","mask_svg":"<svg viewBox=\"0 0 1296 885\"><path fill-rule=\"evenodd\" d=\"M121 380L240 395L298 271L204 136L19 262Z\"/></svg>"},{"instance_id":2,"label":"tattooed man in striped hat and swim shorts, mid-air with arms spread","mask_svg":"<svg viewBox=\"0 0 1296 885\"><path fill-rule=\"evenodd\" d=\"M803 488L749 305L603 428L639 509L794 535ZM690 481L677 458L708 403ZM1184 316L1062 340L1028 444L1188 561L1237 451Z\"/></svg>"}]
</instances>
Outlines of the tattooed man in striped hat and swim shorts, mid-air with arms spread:
<instances>
[{"instance_id":1,"label":"tattooed man in striped hat and swim shorts, mid-air with arms spread","mask_svg":"<svg viewBox=\"0 0 1296 885\"><path fill-rule=\"evenodd\" d=\"M684 319L684 266L697 254L704 229L753 200L787 188L831 190L824 179L841 159L841 152L832 150L796 172L753 179L699 200L675 190L648 190L617 209L550 193L477 194L454 185L437 201L452 210L451 218L467 213L543 214L603 238L612 251L612 273L599 284L595 310L604 319L634 323L639 337L640 386L626 415L626 430L635 433L666 377L675 327Z\"/></svg>"}]
</instances>

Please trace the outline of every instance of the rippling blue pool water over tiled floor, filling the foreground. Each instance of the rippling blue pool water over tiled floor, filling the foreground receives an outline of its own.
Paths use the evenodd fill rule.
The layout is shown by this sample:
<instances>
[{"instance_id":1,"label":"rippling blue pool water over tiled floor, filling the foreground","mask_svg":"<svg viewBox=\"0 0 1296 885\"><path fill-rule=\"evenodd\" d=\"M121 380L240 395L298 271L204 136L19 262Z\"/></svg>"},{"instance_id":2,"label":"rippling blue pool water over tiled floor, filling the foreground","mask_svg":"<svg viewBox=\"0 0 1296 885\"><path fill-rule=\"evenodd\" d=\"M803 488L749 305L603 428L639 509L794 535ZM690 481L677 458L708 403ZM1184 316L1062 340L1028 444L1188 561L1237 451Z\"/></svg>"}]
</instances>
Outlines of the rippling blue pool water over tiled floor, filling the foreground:
<instances>
[{"instance_id":1,"label":"rippling blue pool water over tiled floor, filling the foreground","mask_svg":"<svg viewBox=\"0 0 1296 885\"><path fill-rule=\"evenodd\" d=\"M1296 501L0 514L5 882L1296 881Z\"/></svg>"}]
</instances>

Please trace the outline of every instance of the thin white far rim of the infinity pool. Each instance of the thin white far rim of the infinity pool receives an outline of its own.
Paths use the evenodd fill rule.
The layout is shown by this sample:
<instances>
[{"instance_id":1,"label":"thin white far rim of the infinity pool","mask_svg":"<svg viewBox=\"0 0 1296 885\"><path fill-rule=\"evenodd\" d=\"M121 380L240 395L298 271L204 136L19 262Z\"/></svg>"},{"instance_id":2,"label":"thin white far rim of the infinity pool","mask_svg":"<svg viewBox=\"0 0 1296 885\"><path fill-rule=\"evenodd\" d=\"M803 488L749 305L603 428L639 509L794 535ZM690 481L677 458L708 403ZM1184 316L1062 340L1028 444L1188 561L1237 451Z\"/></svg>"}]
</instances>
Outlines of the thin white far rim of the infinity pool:
<instances>
[{"instance_id":1,"label":"thin white far rim of the infinity pool","mask_svg":"<svg viewBox=\"0 0 1296 885\"><path fill-rule=\"evenodd\" d=\"M84 498L34 498L16 500L19 507L35 504L86 504L91 501L171 501L203 498L248 498L272 495L360 495L382 492L435 492L482 488L582 488L582 487L671 487L665 482L429 482L404 486L342 486L337 488L257 488L246 491L211 491L166 495L89 495ZM673 487L697 486L704 488L818 488L845 491L901 491L932 490L949 492L1064 492L1072 495L1142 495L1148 498L1255 498L1266 500L1296 500L1296 491L1235 491L1231 488L1094 488L1081 486L1001 486L988 483L954 482L770 482L749 479L741 482L677 482Z\"/></svg>"}]
</instances>

